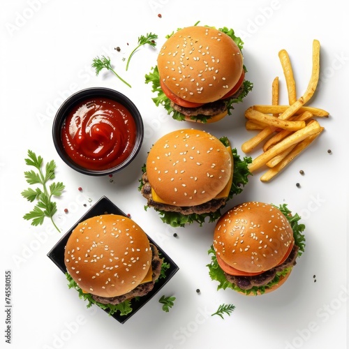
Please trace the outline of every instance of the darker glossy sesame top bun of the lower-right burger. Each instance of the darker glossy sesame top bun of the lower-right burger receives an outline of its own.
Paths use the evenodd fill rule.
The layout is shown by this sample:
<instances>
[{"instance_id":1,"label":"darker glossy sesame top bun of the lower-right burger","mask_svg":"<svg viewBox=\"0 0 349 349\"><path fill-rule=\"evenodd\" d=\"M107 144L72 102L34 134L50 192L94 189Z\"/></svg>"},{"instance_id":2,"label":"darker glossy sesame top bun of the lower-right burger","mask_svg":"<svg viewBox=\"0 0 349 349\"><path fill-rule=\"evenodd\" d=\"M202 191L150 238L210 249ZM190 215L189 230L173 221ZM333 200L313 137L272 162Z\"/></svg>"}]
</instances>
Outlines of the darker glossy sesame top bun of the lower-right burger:
<instances>
[{"instance_id":1,"label":"darker glossy sesame top bun of the lower-right burger","mask_svg":"<svg viewBox=\"0 0 349 349\"><path fill-rule=\"evenodd\" d=\"M243 272L265 272L283 260L293 246L293 231L283 213L263 202L245 202L219 218L214 249Z\"/></svg>"}]
</instances>

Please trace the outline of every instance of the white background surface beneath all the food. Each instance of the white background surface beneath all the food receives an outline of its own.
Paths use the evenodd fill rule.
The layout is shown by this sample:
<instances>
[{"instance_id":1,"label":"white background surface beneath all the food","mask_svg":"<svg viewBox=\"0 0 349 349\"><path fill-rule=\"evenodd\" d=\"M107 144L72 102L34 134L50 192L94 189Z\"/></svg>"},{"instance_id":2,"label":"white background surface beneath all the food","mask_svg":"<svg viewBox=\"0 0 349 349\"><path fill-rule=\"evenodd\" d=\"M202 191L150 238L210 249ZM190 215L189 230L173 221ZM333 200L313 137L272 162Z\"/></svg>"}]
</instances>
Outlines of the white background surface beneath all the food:
<instances>
[{"instance_id":1,"label":"white background surface beneath all the food","mask_svg":"<svg viewBox=\"0 0 349 349\"><path fill-rule=\"evenodd\" d=\"M348 15L343 1L1 1L1 303L5 270L12 270L12 348L346 348L347 336L347 200L348 161ZM158 17L161 13L162 18ZM232 27L244 39L246 77L254 89L233 117L207 126L179 124L151 101L144 74L156 64L164 36L198 20ZM140 35L158 34L156 50L143 47L126 62ZM174 229L157 214L144 211L138 192L140 167L152 142L173 129L198 127L227 135L239 154L251 137L244 129L244 110L269 103L271 84L281 81L281 101L287 103L278 52L288 50L295 69L298 95L311 73L311 45L320 40L320 88L310 105L328 110L320 120L325 132L277 179L262 184L260 173L227 209L246 200L288 207L303 216L306 252L280 290L262 297L244 297L232 290L216 291L209 279L207 250L214 224ZM129 43L129 45L127 45ZM116 52L114 47L121 47ZM109 55L125 84L110 74L96 77L91 61ZM92 178L70 170L57 155L51 126L57 107L73 91L111 87L130 97L144 118L140 154L124 172ZM57 163L57 180L66 191L55 216L63 234L86 211L107 195L177 262L179 272L158 294L177 299L170 313L155 297L126 324L103 311L86 309L64 275L46 253L61 234L49 221L32 227L22 216L33 205L20 193L28 185L23 172L27 149ZM332 149L332 154L327 154ZM305 174L299 174L299 170ZM301 188L296 187L296 183ZM81 186L83 191L77 188ZM89 202L91 199L91 202ZM64 208L69 209L64 214ZM172 235L177 232L178 237ZM313 275L315 275L316 283ZM200 288L198 295L195 290ZM211 313L219 304L236 309L222 320ZM4 308L3 308L4 310ZM6 313L2 311L1 328ZM3 333L3 332L2 332ZM334 345L334 341L336 344ZM4 348L4 335L1 348Z\"/></svg>"}]
</instances>

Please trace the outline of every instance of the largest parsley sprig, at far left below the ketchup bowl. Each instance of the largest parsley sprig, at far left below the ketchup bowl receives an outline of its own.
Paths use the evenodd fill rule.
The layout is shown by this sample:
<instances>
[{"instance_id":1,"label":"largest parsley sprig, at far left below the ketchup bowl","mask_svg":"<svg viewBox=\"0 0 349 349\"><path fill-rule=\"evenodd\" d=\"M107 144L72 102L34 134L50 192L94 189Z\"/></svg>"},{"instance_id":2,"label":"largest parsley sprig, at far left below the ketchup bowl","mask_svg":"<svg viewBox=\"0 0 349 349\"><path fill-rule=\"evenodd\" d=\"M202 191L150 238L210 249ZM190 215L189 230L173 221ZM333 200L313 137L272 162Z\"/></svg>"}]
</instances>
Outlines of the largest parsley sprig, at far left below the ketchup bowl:
<instances>
[{"instance_id":1,"label":"largest parsley sprig, at far left below the ketchup bowl","mask_svg":"<svg viewBox=\"0 0 349 349\"><path fill-rule=\"evenodd\" d=\"M61 196L64 191L64 184L62 182L53 182L47 188L47 183L54 179L54 170L56 168L56 163L50 161L45 166L45 171L43 171L43 158L41 156L36 156L34 151L28 150L28 158L25 159L25 163L29 166L34 166L37 172L34 170L24 172L24 176L27 182L31 185L41 184L43 188L28 188L22 191L22 196L30 202L37 200L37 204L34 209L23 216L27 221L31 221L31 225L42 225L45 217L51 219L54 228L59 232L59 228L53 221L53 216L57 212L56 202L52 201L53 197Z\"/></svg>"}]
</instances>

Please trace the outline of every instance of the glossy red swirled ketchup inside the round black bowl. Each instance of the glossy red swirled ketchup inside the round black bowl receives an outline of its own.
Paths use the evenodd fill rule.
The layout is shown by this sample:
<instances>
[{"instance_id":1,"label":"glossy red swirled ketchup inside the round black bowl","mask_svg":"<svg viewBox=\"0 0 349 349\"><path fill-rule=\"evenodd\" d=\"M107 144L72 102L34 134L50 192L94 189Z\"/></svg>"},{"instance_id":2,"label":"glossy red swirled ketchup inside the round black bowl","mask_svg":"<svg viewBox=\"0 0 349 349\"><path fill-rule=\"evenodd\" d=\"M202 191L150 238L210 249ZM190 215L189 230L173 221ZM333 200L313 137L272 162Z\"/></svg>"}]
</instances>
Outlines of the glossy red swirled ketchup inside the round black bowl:
<instances>
[{"instance_id":1,"label":"glossy red swirled ketchup inside the round black bowl","mask_svg":"<svg viewBox=\"0 0 349 349\"><path fill-rule=\"evenodd\" d=\"M77 165L107 170L131 154L135 120L124 105L110 98L90 98L70 111L61 138L66 153Z\"/></svg>"}]
</instances>

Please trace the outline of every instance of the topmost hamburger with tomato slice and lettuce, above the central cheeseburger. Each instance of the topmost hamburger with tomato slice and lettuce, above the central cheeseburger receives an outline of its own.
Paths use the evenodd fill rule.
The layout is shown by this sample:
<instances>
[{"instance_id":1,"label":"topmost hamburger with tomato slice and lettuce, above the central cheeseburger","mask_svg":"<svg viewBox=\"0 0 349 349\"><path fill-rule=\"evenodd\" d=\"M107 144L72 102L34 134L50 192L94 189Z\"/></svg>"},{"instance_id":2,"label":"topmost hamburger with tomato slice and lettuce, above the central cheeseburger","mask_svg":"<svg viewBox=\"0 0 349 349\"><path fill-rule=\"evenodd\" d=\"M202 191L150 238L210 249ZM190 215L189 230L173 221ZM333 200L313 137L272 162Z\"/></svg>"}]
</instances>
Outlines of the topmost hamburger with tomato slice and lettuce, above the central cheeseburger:
<instances>
[{"instance_id":1,"label":"topmost hamburger with tomato slice and lettuce, above the central cheeseburger","mask_svg":"<svg viewBox=\"0 0 349 349\"><path fill-rule=\"evenodd\" d=\"M251 91L245 80L243 42L228 28L195 25L167 37L147 74L156 105L177 120L215 122Z\"/></svg>"}]
</instances>

